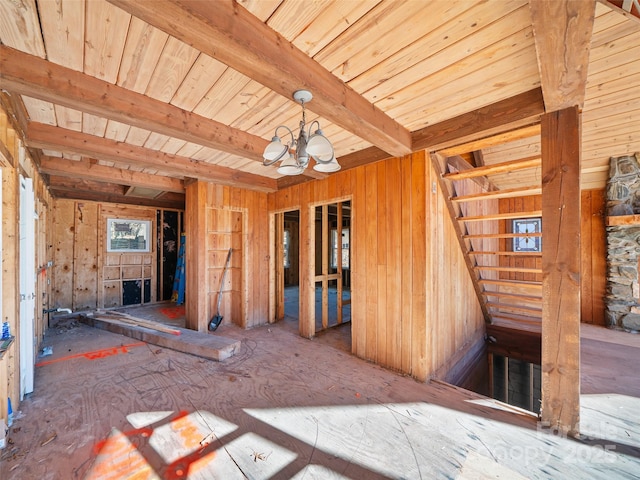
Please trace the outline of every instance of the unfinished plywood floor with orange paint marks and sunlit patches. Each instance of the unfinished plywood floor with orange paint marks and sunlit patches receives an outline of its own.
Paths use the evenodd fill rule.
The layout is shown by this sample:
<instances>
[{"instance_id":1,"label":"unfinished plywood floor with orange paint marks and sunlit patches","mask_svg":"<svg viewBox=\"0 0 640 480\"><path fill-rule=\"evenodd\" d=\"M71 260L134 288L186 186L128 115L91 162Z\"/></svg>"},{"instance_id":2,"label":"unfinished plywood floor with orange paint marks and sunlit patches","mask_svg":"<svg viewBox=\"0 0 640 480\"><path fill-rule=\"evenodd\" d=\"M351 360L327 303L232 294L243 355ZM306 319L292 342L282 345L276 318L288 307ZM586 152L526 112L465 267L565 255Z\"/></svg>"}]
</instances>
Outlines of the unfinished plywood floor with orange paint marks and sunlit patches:
<instances>
[{"instance_id":1,"label":"unfinished plywood floor with orange paint marks and sunlit patches","mask_svg":"<svg viewBox=\"0 0 640 480\"><path fill-rule=\"evenodd\" d=\"M67 320L0 478L637 478L640 336L585 326L580 441L479 395L422 384L285 323L224 362ZM616 373L617 372L617 373Z\"/></svg>"}]
</instances>

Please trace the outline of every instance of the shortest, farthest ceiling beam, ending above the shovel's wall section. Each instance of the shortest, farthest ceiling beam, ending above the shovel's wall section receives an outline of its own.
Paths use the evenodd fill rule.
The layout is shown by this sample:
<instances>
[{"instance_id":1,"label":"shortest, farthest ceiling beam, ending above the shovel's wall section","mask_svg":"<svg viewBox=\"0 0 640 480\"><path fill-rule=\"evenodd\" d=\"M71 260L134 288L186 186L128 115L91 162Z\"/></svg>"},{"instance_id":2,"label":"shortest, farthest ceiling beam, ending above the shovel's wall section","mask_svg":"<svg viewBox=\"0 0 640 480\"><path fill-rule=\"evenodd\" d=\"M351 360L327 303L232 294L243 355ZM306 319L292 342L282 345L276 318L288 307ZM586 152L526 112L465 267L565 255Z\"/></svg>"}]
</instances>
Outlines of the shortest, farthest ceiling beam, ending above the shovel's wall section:
<instances>
[{"instance_id":1,"label":"shortest, farthest ceiling beam, ending above the shovel's wall section","mask_svg":"<svg viewBox=\"0 0 640 480\"><path fill-rule=\"evenodd\" d=\"M184 193L184 181L178 178L105 167L88 160L67 160L43 156L40 171L49 175L72 177L92 182L114 183L131 187L153 188L163 192Z\"/></svg>"}]
</instances>

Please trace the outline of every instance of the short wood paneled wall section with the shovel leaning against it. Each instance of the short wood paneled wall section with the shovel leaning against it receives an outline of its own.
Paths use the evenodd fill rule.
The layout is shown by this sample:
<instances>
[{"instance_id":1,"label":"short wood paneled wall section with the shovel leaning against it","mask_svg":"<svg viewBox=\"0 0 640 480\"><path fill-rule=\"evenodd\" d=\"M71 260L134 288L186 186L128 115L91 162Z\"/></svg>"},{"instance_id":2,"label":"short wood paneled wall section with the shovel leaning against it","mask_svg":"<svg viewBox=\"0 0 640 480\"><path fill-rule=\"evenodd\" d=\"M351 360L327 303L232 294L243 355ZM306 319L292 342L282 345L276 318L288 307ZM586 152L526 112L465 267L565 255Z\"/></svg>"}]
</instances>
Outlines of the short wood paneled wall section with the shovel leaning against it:
<instances>
[{"instance_id":1,"label":"short wood paneled wall section with the shovel leaning against it","mask_svg":"<svg viewBox=\"0 0 640 480\"><path fill-rule=\"evenodd\" d=\"M242 328L268 322L269 216L262 192L194 181L185 195L187 326L207 331L233 247L221 315ZM229 299L230 297L230 299Z\"/></svg>"}]
</instances>

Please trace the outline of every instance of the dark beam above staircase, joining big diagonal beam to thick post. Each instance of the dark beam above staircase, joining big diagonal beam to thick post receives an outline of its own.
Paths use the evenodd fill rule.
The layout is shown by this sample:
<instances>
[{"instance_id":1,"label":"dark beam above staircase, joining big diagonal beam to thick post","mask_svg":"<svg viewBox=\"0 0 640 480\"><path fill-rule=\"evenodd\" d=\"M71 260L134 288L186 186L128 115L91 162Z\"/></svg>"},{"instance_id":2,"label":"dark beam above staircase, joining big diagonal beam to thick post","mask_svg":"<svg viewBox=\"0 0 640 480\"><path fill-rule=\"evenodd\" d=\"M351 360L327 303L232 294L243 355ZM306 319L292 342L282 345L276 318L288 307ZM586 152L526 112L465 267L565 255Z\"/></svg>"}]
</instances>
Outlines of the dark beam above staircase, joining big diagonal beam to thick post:
<instances>
[{"instance_id":1,"label":"dark beam above staircase, joining big diagonal beam to thick post","mask_svg":"<svg viewBox=\"0 0 640 480\"><path fill-rule=\"evenodd\" d=\"M430 125L412 134L414 150L439 150L487 137L513 127L537 123L544 112L539 88Z\"/></svg>"}]
</instances>

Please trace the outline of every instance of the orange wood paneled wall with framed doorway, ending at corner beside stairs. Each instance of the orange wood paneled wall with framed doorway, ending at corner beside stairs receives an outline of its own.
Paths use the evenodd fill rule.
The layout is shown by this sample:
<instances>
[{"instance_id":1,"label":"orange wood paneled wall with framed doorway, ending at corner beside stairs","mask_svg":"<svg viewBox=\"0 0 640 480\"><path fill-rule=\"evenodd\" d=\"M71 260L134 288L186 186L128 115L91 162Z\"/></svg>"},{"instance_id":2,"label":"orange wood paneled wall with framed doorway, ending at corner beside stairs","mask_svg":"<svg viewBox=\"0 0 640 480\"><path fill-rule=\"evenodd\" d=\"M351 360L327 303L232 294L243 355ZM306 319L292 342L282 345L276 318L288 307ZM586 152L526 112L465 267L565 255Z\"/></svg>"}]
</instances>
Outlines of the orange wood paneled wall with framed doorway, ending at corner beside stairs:
<instances>
[{"instance_id":1,"label":"orange wood paneled wall with framed doorway, ending at corner beside stairs","mask_svg":"<svg viewBox=\"0 0 640 480\"><path fill-rule=\"evenodd\" d=\"M424 152L269 194L270 212L300 209L300 332L313 331L313 208L347 199L352 351L425 380L484 324Z\"/></svg>"}]
</instances>

